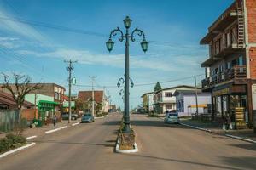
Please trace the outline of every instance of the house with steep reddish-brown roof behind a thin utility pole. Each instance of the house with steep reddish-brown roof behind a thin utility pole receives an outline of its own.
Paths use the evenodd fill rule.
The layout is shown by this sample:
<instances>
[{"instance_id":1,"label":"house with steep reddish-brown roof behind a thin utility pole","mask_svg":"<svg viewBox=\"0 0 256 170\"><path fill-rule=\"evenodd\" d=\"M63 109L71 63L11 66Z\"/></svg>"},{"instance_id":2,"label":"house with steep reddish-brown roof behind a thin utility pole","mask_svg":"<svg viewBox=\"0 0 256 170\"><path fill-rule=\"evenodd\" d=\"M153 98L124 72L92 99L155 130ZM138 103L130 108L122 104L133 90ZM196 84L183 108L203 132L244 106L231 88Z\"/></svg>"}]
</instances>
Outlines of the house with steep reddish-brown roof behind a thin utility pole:
<instances>
[{"instance_id":1,"label":"house with steep reddish-brown roof behind a thin utility pole","mask_svg":"<svg viewBox=\"0 0 256 170\"><path fill-rule=\"evenodd\" d=\"M103 90L79 91L78 99L81 99L85 103L88 103L90 108L91 101L92 101L92 93L94 93L95 105L102 105L102 110L100 112L108 112L108 109L110 109L110 105L108 102L108 98Z\"/></svg>"}]
</instances>

